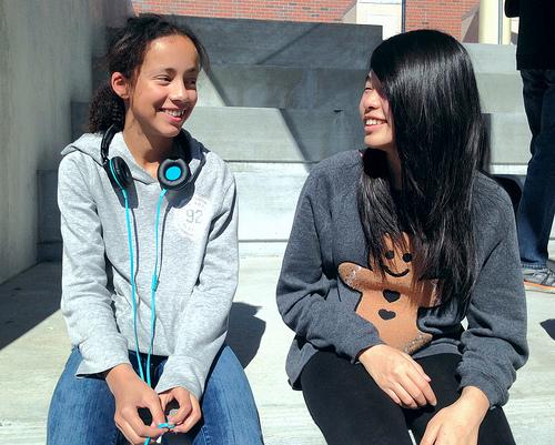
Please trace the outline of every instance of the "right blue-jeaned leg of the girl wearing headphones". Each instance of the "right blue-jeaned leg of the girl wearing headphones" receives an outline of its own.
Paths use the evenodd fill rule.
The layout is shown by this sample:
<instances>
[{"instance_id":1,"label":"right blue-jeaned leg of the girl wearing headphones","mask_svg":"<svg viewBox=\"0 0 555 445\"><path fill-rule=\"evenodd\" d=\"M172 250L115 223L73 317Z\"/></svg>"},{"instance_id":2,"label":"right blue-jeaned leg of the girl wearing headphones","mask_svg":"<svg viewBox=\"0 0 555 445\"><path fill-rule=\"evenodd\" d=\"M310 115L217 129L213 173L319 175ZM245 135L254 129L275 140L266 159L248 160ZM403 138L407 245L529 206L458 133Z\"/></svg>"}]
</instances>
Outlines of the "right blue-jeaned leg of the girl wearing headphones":
<instances>
[{"instance_id":1,"label":"right blue-jeaned leg of the girl wearing headphones","mask_svg":"<svg viewBox=\"0 0 555 445\"><path fill-rule=\"evenodd\" d=\"M224 346L206 380L202 419L193 445L262 445L262 429L246 375L235 354Z\"/></svg>"}]
</instances>

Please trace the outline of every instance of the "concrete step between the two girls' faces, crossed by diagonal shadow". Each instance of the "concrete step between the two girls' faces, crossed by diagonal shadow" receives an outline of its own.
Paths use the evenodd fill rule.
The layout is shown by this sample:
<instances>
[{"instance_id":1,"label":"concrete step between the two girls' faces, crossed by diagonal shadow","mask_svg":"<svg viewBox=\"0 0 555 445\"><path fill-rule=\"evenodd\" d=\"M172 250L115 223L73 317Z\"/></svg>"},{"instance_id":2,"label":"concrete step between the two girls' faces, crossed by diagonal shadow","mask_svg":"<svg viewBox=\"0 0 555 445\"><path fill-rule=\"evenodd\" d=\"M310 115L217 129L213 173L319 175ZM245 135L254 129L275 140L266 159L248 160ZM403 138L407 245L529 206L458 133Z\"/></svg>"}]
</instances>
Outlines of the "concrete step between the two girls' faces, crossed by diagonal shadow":
<instances>
[{"instance_id":1,"label":"concrete step between the two girls' faces, crossed by diagonal shadow","mask_svg":"<svg viewBox=\"0 0 555 445\"><path fill-rule=\"evenodd\" d=\"M88 108L72 107L75 139L85 129ZM314 162L363 140L357 104L347 110L198 107L184 128L228 161Z\"/></svg>"}]
</instances>

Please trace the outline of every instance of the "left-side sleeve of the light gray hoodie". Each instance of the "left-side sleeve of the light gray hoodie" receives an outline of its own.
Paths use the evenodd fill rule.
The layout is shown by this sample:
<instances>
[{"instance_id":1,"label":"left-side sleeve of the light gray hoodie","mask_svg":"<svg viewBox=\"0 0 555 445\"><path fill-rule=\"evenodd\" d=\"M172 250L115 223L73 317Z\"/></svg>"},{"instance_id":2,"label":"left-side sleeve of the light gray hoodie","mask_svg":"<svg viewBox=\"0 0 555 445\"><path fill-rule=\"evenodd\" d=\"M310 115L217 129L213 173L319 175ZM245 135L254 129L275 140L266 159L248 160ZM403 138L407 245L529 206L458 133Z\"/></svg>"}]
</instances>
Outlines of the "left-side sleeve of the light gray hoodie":
<instances>
[{"instance_id":1,"label":"left-side sleeve of the light gray hoodie","mask_svg":"<svg viewBox=\"0 0 555 445\"><path fill-rule=\"evenodd\" d=\"M83 361L77 375L104 372L129 363L127 340L118 332L107 289L104 243L89 189L85 155L64 156L58 174L58 205L63 239L62 301L71 343ZM91 161L92 162L92 161Z\"/></svg>"}]
</instances>

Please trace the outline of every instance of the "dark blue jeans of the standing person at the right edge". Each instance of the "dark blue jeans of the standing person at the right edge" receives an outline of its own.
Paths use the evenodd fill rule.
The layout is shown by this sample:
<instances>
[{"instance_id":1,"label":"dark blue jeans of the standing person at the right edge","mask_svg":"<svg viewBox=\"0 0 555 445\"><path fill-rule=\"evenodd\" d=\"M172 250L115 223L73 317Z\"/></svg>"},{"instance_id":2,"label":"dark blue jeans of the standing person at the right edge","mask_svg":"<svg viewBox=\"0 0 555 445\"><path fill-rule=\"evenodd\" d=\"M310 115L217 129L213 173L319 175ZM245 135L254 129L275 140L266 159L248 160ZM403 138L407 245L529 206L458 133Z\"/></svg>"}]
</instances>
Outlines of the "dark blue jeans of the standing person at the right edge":
<instances>
[{"instance_id":1,"label":"dark blue jeans of the standing person at the right edge","mask_svg":"<svg viewBox=\"0 0 555 445\"><path fill-rule=\"evenodd\" d=\"M523 266L542 269L555 213L555 70L521 70L521 75L532 159L516 225Z\"/></svg>"}]
</instances>

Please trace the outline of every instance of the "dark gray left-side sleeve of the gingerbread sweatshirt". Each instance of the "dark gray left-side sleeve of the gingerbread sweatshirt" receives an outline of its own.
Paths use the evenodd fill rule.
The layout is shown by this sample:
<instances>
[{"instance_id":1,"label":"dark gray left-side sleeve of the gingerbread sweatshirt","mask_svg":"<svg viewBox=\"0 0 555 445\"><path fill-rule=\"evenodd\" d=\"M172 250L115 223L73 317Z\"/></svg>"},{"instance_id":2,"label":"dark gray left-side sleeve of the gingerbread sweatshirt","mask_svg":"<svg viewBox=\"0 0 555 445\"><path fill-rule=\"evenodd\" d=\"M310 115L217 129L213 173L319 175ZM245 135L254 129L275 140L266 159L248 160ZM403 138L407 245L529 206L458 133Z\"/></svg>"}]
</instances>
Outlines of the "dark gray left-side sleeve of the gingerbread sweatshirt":
<instances>
[{"instance_id":1,"label":"dark gray left-side sleeve of the gingerbread sweatshirt","mask_svg":"<svg viewBox=\"0 0 555 445\"><path fill-rule=\"evenodd\" d=\"M319 200L320 198L320 200ZM278 309L285 324L317 348L333 347L356 361L359 353L382 343L374 325L344 304L327 299L335 276L323 270L321 231L331 225L331 212L319 201L325 200L313 174L304 184L278 282ZM330 234L327 234L330 236Z\"/></svg>"}]
</instances>

